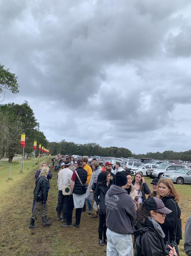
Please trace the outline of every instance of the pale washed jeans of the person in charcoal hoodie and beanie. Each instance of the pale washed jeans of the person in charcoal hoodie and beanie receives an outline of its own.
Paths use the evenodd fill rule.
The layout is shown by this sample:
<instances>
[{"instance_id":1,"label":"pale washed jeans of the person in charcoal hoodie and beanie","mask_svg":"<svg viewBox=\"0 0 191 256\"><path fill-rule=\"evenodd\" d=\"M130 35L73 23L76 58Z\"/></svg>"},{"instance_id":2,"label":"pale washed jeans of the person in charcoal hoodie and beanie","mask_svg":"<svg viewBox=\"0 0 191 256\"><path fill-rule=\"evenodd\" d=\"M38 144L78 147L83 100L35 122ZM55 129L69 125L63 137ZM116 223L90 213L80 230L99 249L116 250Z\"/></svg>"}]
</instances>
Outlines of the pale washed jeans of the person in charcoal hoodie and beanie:
<instances>
[{"instance_id":1,"label":"pale washed jeans of the person in charcoal hoodie and beanie","mask_svg":"<svg viewBox=\"0 0 191 256\"><path fill-rule=\"evenodd\" d=\"M131 234L118 234L107 229L107 256L133 256Z\"/></svg>"}]
</instances>

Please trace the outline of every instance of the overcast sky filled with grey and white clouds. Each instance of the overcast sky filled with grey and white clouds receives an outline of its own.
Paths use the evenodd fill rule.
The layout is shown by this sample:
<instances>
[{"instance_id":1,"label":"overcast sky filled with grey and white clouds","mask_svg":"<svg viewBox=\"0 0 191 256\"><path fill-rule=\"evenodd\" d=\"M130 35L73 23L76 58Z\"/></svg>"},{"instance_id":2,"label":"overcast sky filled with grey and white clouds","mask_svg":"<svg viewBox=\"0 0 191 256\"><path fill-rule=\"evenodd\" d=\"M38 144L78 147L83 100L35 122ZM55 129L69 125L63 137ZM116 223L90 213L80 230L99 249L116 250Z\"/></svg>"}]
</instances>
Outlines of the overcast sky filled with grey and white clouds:
<instances>
[{"instance_id":1,"label":"overcast sky filled with grey and white clouds","mask_svg":"<svg viewBox=\"0 0 191 256\"><path fill-rule=\"evenodd\" d=\"M191 149L190 17L189 0L0 0L20 86L3 103L27 100L48 141Z\"/></svg>"}]
</instances>

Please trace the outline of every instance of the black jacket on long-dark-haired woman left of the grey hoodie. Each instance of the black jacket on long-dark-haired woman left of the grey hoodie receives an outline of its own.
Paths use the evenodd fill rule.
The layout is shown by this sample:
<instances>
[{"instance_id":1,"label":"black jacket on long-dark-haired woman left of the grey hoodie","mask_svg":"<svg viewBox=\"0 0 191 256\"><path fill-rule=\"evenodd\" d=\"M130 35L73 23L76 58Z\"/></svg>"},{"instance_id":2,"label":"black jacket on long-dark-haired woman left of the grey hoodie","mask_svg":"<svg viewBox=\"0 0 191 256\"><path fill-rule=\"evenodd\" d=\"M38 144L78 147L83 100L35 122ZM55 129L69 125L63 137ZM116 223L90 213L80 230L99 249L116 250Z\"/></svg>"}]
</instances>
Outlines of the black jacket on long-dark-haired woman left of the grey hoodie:
<instances>
[{"instance_id":1,"label":"black jacket on long-dark-haired woman left of the grey hoodie","mask_svg":"<svg viewBox=\"0 0 191 256\"><path fill-rule=\"evenodd\" d=\"M96 204L100 205L100 210L98 211L99 214L105 214L105 194L110 188L110 183L107 186L106 184L98 183L96 186L96 190L94 191L94 199ZM98 198L98 196L100 196Z\"/></svg>"}]
</instances>

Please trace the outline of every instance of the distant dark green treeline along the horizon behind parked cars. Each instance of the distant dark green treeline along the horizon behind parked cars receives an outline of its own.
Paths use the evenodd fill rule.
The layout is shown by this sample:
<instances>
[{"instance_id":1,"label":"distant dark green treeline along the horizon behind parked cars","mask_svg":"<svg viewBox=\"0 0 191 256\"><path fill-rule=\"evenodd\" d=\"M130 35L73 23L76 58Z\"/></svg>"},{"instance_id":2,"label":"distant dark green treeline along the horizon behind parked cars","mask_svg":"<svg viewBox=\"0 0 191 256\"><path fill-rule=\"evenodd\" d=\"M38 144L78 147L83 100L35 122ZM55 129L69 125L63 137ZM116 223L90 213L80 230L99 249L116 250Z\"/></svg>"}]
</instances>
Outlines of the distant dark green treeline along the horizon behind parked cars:
<instances>
[{"instance_id":1,"label":"distant dark green treeline along the horizon behind parked cars","mask_svg":"<svg viewBox=\"0 0 191 256\"><path fill-rule=\"evenodd\" d=\"M52 155L75 154L79 156L114 156L114 157L134 157L135 159L149 158L156 160L182 160L191 161L191 149L184 152L174 152L171 150L162 153L148 152L147 154L132 154L129 149L118 147L103 148L96 143L75 144L62 140L60 142L48 142L48 149Z\"/></svg>"}]
</instances>

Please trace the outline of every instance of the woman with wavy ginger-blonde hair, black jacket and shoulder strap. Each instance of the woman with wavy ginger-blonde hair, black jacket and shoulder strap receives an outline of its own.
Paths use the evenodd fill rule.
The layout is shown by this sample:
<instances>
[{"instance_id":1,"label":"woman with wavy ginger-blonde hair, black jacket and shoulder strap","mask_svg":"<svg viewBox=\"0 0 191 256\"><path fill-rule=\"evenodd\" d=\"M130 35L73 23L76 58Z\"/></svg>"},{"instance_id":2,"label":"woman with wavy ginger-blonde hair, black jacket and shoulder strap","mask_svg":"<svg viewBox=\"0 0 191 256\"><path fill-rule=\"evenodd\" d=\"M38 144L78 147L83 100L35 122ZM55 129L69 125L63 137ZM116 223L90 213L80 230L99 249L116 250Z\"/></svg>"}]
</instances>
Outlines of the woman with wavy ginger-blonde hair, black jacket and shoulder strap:
<instances>
[{"instance_id":1,"label":"woman with wavy ginger-blonde hair, black jacket and shoulder strap","mask_svg":"<svg viewBox=\"0 0 191 256\"><path fill-rule=\"evenodd\" d=\"M165 222L162 224L162 230L165 233L164 242L168 241L168 233L170 235L170 242L175 240L176 230L176 243L180 243L182 239L182 224L181 224L181 210L178 206L179 195L170 179L160 179L158 182L159 198L164 203L165 207L170 209L172 213L168 214Z\"/></svg>"}]
</instances>

